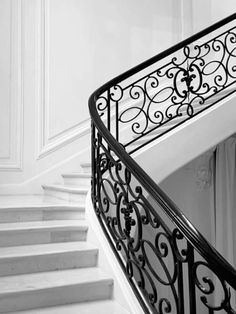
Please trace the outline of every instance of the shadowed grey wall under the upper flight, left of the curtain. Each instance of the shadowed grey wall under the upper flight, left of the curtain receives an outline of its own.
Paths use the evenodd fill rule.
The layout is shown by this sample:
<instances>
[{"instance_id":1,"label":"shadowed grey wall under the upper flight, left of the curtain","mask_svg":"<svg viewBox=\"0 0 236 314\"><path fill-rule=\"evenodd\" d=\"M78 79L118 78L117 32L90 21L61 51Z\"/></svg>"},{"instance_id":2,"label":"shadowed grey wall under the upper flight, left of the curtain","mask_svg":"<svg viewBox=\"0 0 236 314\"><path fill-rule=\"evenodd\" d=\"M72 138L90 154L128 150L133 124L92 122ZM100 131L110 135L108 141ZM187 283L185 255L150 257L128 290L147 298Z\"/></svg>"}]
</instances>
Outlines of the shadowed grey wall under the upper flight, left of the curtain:
<instances>
[{"instance_id":1,"label":"shadowed grey wall under the upper flight, left of the curtain","mask_svg":"<svg viewBox=\"0 0 236 314\"><path fill-rule=\"evenodd\" d=\"M206 154L207 155L207 154ZM211 208L214 203L213 174L211 156L200 156L181 167L160 186L175 202L191 223L214 245L214 215ZM205 159L202 162L202 159ZM209 172L209 182L204 182L203 171ZM180 184L181 182L181 184Z\"/></svg>"}]
</instances>

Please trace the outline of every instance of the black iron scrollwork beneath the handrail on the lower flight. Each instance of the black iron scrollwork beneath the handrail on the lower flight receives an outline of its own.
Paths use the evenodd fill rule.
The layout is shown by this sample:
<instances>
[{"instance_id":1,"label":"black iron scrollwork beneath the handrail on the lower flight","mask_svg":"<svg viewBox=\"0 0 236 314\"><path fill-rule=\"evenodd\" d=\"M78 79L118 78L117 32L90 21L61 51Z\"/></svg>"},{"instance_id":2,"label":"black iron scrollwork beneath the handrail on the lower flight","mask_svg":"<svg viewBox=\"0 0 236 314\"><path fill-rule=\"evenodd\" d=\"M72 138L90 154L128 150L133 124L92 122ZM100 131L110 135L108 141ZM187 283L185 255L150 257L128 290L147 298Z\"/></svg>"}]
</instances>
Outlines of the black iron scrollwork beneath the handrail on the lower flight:
<instances>
[{"instance_id":1,"label":"black iron scrollwork beneath the handrail on the lower flight","mask_svg":"<svg viewBox=\"0 0 236 314\"><path fill-rule=\"evenodd\" d=\"M150 313L236 313L221 272L195 253L96 132L93 204L114 252ZM201 271L203 268L203 271ZM218 298L214 292L220 291ZM149 312L147 312L149 313Z\"/></svg>"}]
</instances>

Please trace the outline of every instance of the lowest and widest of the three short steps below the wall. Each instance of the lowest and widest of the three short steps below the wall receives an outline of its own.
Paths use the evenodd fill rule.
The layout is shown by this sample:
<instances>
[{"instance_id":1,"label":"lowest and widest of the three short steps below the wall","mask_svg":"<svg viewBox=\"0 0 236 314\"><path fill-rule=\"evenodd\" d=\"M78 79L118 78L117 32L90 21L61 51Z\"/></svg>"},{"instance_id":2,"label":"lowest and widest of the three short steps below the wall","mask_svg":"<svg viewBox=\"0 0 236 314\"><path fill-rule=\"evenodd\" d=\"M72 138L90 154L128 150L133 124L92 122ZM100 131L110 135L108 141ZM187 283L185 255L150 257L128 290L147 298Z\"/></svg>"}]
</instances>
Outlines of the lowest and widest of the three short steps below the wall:
<instances>
[{"instance_id":1,"label":"lowest and widest of the three short steps below the wall","mask_svg":"<svg viewBox=\"0 0 236 314\"><path fill-rule=\"evenodd\" d=\"M68 202L85 202L89 188L73 187L67 185L43 185L45 195L53 196Z\"/></svg>"}]
</instances>

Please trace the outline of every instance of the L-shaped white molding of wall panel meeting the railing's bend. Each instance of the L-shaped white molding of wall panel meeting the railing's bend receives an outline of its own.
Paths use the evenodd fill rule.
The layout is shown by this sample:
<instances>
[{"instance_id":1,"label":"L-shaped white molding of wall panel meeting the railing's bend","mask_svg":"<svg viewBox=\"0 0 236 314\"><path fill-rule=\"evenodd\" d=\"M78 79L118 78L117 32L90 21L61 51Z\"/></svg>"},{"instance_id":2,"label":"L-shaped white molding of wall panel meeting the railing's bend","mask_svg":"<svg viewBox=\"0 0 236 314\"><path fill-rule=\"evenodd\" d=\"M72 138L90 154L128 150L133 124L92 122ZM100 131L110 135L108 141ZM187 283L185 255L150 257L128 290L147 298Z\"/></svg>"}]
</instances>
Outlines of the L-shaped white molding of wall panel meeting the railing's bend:
<instances>
[{"instance_id":1,"label":"L-shaped white molding of wall panel meeting the railing's bend","mask_svg":"<svg viewBox=\"0 0 236 314\"><path fill-rule=\"evenodd\" d=\"M36 38L39 40L36 52L36 73L38 73L38 84L36 84L38 85L36 92L38 99L38 138L36 141L36 159L41 159L65 147L78 138L89 134L90 119L71 125L69 128L61 130L53 136L50 135L50 1L39 0L38 5L38 28L36 30Z\"/></svg>"}]
</instances>

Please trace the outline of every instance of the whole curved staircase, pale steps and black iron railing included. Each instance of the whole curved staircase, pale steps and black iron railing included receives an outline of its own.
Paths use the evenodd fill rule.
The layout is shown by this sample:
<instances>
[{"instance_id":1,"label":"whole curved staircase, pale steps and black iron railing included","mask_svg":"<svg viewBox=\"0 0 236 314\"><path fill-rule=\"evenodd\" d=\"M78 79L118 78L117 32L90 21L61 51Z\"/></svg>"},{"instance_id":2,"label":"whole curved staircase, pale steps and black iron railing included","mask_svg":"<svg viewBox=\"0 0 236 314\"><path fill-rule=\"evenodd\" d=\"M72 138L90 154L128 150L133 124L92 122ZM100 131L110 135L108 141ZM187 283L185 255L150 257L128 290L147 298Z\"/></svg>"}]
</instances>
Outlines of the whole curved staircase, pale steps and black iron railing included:
<instances>
[{"instance_id":1,"label":"whole curved staircase, pale steps and black iron railing included","mask_svg":"<svg viewBox=\"0 0 236 314\"><path fill-rule=\"evenodd\" d=\"M89 99L91 202L147 314L236 313L236 270L157 185L236 132L235 21L210 26ZM132 158L144 147L148 170ZM87 241L90 164L82 169L64 174L64 185L44 185L44 196L1 197L0 313L128 313Z\"/></svg>"}]
</instances>

